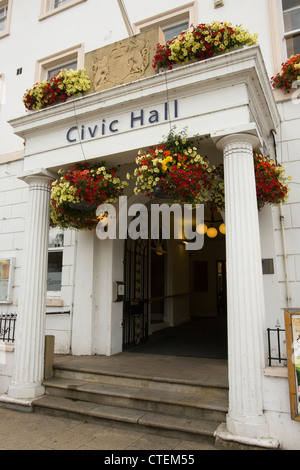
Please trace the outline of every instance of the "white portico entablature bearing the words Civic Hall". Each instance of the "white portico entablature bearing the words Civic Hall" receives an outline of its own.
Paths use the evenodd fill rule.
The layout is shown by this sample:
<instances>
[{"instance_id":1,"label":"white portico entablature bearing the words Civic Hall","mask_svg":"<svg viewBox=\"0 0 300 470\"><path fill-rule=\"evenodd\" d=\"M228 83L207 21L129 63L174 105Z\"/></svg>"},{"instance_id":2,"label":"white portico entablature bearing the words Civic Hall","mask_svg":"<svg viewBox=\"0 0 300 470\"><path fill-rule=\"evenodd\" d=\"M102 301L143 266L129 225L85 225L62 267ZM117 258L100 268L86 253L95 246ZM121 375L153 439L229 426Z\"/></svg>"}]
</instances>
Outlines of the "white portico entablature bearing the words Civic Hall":
<instances>
[{"instance_id":1,"label":"white portico entablature bearing the words Civic Hall","mask_svg":"<svg viewBox=\"0 0 300 470\"><path fill-rule=\"evenodd\" d=\"M105 158L132 162L176 125L189 135L255 133L271 141L279 114L259 46L143 78L10 121L26 140L24 170Z\"/></svg>"}]
</instances>

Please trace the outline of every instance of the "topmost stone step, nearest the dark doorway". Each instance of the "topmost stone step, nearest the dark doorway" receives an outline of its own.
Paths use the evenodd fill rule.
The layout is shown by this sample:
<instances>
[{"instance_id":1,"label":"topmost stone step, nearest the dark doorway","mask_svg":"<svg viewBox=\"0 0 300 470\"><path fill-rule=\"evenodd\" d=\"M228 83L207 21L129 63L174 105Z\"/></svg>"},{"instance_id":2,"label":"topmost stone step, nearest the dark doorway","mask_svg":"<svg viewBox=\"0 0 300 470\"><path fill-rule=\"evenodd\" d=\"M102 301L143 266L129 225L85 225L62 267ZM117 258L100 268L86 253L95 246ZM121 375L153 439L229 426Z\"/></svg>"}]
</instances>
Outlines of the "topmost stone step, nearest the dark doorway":
<instances>
[{"instance_id":1,"label":"topmost stone step, nearest the dark doorway","mask_svg":"<svg viewBox=\"0 0 300 470\"><path fill-rule=\"evenodd\" d=\"M213 381L199 381L199 379L172 379L170 377L146 376L142 373L129 374L123 372L114 372L107 370L92 370L88 368L78 368L72 365L55 365L54 376L82 380L87 382L101 383L107 385L115 385L121 387L134 387L143 390L160 390L165 392L176 392L198 397L209 397L210 399L228 400L228 386L218 382L217 378Z\"/></svg>"}]
</instances>

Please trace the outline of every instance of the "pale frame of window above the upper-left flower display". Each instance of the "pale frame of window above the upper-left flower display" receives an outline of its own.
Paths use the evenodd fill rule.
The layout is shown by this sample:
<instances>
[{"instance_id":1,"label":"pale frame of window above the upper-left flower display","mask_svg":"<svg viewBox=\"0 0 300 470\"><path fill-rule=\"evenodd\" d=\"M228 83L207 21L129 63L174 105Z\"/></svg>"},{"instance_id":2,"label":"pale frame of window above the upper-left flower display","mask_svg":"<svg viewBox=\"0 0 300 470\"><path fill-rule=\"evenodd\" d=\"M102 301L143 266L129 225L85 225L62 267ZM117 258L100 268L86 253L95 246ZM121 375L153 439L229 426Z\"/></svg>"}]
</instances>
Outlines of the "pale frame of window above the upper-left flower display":
<instances>
[{"instance_id":1,"label":"pale frame of window above the upper-left flower display","mask_svg":"<svg viewBox=\"0 0 300 470\"><path fill-rule=\"evenodd\" d=\"M77 60L77 70L84 67L84 48L83 44L65 49L63 51L44 57L37 61L35 70L35 82L40 82L47 79L48 71L60 67L63 69L64 65Z\"/></svg>"}]
</instances>

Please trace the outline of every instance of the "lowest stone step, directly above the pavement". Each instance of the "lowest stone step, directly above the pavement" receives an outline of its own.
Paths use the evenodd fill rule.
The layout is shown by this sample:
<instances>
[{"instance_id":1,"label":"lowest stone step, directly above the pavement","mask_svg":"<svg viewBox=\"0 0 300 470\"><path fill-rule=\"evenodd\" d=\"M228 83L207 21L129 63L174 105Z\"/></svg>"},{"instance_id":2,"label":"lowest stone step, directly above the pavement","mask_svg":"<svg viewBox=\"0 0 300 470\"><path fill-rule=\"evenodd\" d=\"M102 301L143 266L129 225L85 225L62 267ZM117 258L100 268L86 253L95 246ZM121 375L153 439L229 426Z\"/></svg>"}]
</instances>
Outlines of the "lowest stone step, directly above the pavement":
<instances>
[{"instance_id":1,"label":"lowest stone step, directly above the pavement","mask_svg":"<svg viewBox=\"0 0 300 470\"><path fill-rule=\"evenodd\" d=\"M82 400L45 395L34 402L34 412L63 416L111 427L130 428L167 437L214 444L214 432L219 423L136 410Z\"/></svg>"}]
</instances>

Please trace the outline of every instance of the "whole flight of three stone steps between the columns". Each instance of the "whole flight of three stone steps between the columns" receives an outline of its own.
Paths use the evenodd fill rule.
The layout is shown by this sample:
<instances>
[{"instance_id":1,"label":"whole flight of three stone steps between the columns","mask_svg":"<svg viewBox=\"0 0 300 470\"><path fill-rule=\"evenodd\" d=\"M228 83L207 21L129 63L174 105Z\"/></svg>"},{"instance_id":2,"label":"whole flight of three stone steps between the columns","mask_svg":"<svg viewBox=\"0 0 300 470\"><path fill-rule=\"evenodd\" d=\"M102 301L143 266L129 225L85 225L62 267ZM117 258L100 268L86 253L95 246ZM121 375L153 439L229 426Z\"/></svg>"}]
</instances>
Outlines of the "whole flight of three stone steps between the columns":
<instances>
[{"instance_id":1,"label":"whole flight of three stone steps between the columns","mask_svg":"<svg viewBox=\"0 0 300 470\"><path fill-rule=\"evenodd\" d=\"M56 364L44 386L46 395L35 402L35 412L208 444L228 409L222 383L76 368L68 362Z\"/></svg>"}]
</instances>

